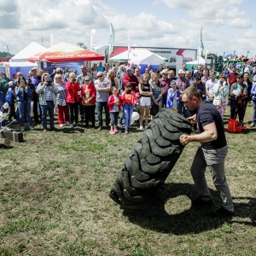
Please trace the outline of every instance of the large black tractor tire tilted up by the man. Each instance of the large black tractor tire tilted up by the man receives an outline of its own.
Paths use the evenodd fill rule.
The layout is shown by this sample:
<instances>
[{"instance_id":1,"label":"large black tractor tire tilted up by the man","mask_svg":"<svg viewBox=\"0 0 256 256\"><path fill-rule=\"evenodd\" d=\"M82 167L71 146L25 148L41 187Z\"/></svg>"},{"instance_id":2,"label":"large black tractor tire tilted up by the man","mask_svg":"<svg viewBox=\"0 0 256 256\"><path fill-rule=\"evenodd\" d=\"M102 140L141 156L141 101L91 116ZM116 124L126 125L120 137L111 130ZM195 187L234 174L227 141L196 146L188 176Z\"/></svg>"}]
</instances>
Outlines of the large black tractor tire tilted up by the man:
<instances>
[{"instance_id":1,"label":"large black tractor tire tilted up by the man","mask_svg":"<svg viewBox=\"0 0 256 256\"><path fill-rule=\"evenodd\" d=\"M162 108L135 144L116 177L110 197L124 209L144 208L172 171L192 126L182 115Z\"/></svg>"}]
</instances>

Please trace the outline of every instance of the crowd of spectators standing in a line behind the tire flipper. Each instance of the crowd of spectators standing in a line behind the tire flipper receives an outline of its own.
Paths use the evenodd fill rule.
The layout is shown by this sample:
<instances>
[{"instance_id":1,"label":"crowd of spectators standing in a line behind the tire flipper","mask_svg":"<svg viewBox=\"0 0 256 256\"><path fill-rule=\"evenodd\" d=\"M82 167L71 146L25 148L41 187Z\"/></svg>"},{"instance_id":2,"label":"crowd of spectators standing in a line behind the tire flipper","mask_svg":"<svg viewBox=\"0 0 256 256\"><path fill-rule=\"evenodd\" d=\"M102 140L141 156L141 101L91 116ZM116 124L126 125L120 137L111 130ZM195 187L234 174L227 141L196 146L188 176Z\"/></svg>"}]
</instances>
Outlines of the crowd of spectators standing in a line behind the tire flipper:
<instances>
[{"instance_id":1,"label":"crowd of spectators standing in a line behind the tire flipper","mask_svg":"<svg viewBox=\"0 0 256 256\"><path fill-rule=\"evenodd\" d=\"M154 119L161 108L188 118L191 113L182 102L182 94L192 86L200 91L203 101L215 105L223 118L230 104L230 118L236 119L238 115L241 126L247 102L253 100L253 127L256 125L256 76L253 83L250 79L253 73L251 67L245 67L241 73L229 65L217 78L215 71L207 67L198 65L188 70L184 64L176 76L173 69L162 64L154 70L148 65L141 73L136 65L122 62L117 67L102 62L90 68L81 66L79 74L68 67L54 68L51 73L32 67L28 74L18 72L12 79L0 73L0 108L4 102L9 103L6 122L15 119L20 131L25 131L26 121L30 131L35 125L42 125L44 132L54 131L57 113L59 128L82 125L85 129L102 131L105 122L110 134L118 133L118 128L125 128L127 134L134 111L140 115L140 131L147 129L149 116ZM1 124L4 126L3 121Z\"/></svg>"}]
</instances>

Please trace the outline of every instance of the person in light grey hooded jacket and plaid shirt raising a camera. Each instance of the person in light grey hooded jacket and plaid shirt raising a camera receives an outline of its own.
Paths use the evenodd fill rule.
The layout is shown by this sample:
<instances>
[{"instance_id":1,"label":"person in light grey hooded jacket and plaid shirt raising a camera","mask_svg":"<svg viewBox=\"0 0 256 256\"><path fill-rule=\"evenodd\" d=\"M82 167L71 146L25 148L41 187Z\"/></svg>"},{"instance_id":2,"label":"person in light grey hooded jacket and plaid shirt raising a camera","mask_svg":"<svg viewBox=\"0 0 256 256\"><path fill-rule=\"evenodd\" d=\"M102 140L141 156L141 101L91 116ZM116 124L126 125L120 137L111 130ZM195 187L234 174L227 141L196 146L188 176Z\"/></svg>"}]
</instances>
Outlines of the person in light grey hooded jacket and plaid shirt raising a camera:
<instances>
[{"instance_id":1,"label":"person in light grey hooded jacket and plaid shirt raising a camera","mask_svg":"<svg viewBox=\"0 0 256 256\"><path fill-rule=\"evenodd\" d=\"M49 127L51 131L55 130L54 111L56 104L56 94L58 87L50 82L49 74L44 73L42 82L38 84L36 92L39 95L39 104L42 108L42 125L44 132L47 131L47 111L49 113Z\"/></svg>"}]
</instances>

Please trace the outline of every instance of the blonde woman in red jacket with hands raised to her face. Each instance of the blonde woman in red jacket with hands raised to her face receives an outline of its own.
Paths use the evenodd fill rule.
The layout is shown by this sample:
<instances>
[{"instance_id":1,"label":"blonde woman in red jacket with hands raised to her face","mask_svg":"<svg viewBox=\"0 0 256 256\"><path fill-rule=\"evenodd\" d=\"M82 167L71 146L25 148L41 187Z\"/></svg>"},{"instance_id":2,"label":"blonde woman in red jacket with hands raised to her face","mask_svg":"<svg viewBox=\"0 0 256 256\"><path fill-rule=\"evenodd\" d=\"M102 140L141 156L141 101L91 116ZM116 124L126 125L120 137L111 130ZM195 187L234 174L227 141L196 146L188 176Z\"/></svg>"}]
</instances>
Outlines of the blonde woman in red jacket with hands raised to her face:
<instances>
[{"instance_id":1,"label":"blonde woman in red jacket with hands raised to her face","mask_svg":"<svg viewBox=\"0 0 256 256\"><path fill-rule=\"evenodd\" d=\"M69 73L66 89L69 122L71 124L70 127L73 128L73 120L75 120L75 125L79 123L79 90L81 90L75 73Z\"/></svg>"}]
</instances>

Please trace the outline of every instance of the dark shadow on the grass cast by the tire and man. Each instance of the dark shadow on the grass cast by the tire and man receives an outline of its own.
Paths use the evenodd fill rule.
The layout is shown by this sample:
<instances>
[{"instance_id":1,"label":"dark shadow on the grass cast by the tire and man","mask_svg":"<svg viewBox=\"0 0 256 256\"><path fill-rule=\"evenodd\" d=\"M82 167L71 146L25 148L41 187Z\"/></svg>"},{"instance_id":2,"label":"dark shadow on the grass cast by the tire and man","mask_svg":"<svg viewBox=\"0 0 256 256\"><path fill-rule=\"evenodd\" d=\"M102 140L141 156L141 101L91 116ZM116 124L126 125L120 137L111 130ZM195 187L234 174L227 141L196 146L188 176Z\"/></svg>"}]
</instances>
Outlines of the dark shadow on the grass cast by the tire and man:
<instances>
[{"instance_id":1,"label":"dark shadow on the grass cast by the tire and man","mask_svg":"<svg viewBox=\"0 0 256 256\"><path fill-rule=\"evenodd\" d=\"M218 203L218 194L215 190L211 190L213 200ZM172 233L174 235L198 234L207 230L217 229L224 223L233 220L229 218L213 218L212 207L208 209L198 209L190 206L183 212L169 214L166 212L166 203L175 200L178 196L184 195L192 200L195 198L195 185L189 183L169 183L165 184L164 191L155 197L148 204L148 207L140 212L131 212L124 210L124 215L129 218L131 223L137 224L145 229L159 231L161 233ZM241 204L236 204L238 216L243 218L251 218L255 224L256 201L251 199L251 208L245 212ZM254 215L253 215L254 214ZM254 225L252 223L247 223Z\"/></svg>"}]
</instances>

